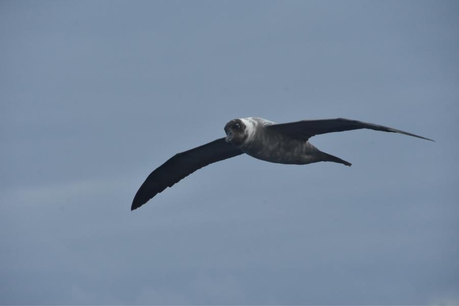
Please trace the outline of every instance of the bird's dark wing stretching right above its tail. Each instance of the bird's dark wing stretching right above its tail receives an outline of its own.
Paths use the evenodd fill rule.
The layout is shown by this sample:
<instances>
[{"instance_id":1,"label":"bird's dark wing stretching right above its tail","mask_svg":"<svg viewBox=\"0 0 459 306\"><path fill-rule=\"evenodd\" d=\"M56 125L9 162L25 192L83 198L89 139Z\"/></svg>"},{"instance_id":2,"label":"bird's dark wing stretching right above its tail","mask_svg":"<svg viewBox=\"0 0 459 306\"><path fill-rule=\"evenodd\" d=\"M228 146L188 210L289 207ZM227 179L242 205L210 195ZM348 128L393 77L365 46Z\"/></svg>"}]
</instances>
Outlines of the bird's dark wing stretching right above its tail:
<instances>
[{"instance_id":1,"label":"bird's dark wing stretching right above its tail","mask_svg":"<svg viewBox=\"0 0 459 306\"><path fill-rule=\"evenodd\" d=\"M412 133L392 129L392 127L387 127L383 125L358 121L358 120L350 120L344 118L336 118L336 119L320 119L320 120L302 120L296 122L289 122L289 123L279 123L279 124L272 124L266 126L266 129L271 131L277 131L280 133L284 133L289 135L292 138L301 138L308 140L309 138L325 134L325 133L333 133L333 132L342 132L342 131L351 131L351 130L359 130L359 129L370 129L376 131L383 131L383 132L394 132L405 134L409 136L414 136L426 140L431 140L419 135L415 135Z\"/></svg>"}]
</instances>

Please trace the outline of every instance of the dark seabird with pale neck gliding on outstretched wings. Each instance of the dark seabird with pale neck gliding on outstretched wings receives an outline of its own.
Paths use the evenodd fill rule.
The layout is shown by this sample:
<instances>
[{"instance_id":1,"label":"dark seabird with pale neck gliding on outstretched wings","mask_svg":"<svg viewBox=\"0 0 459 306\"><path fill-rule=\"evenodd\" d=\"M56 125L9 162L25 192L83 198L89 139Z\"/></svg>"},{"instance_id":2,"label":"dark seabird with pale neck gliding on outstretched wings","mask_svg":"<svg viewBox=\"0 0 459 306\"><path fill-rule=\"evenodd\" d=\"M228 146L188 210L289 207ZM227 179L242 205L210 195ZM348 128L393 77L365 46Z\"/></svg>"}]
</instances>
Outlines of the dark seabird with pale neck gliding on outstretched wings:
<instances>
[{"instance_id":1,"label":"dark seabird with pale neck gliding on outstretched wings","mask_svg":"<svg viewBox=\"0 0 459 306\"><path fill-rule=\"evenodd\" d=\"M241 154L279 164L334 162L351 166L345 160L322 152L309 139L316 135L359 129L400 133L434 141L392 127L345 118L288 123L275 123L259 117L233 119L224 126L226 137L177 153L151 172L134 196L131 211L194 171Z\"/></svg>"}]
</instances>

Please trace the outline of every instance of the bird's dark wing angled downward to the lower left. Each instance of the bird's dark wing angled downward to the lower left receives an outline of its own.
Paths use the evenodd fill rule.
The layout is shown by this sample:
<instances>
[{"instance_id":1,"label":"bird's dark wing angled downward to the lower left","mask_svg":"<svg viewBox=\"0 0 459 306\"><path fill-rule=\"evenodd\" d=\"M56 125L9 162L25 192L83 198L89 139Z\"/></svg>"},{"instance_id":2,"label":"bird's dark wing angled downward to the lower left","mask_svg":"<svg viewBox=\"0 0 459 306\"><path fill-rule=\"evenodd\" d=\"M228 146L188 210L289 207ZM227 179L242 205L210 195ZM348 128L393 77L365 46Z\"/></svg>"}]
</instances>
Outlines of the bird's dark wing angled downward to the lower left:
<instances>
[{"instance_id":1,"label":"bird's dark wing angled downward to the lower left","mask_svg":"<svg viewBox=\"0 0 459 306\"><path fill-rule=\"evenodd\" d=\"M144 205L149 199L194 171L209 164L238 156L243 151L219 138L205 145L178 153L148 175L132 201L131 210Z\"/></svg>"}]
</instances>

